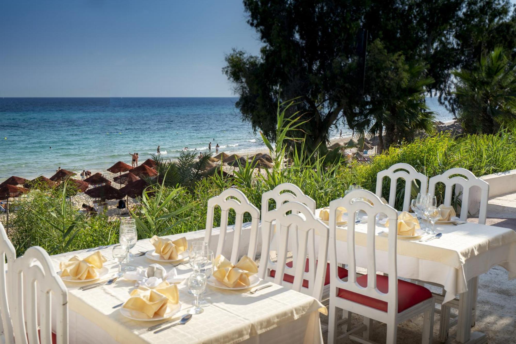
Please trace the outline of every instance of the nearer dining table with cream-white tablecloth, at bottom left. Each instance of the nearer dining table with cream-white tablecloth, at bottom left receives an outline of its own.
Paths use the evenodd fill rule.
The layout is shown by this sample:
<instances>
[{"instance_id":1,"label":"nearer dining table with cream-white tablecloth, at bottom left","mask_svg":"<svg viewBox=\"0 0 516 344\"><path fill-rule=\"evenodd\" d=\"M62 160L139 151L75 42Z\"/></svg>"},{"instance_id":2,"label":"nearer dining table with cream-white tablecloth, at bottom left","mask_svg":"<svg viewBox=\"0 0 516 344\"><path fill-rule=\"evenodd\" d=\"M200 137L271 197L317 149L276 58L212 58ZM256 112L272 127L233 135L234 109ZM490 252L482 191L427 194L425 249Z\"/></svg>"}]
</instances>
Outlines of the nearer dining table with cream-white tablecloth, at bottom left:
<instances>
[{"instance_id":1,"label":"nearer dining table with cream-white tablecloth, at bottom left","mask_svg":"<svg viewBox=\"0 0 516 344\"><path fill-rule=\"evenodd\" d=\"M167 236L177 239L181 235ZM132 252L153 249L148 239L139 240ZM103 277L114 276L118 265L111 255L112 247L100 249L107 258L109 272ZM51 257L56 271L59 263L73 255L86 257L95 250L83 250ZM133 266L147 267L157 263L146 256L135 257ZM160 263L167 271L173 265ZM178 277L187 278L192 272L188 264L176 267ZM90 282L91 283L91 282ZM160 321L136 321L124 317L115 305L126 301L135 288L134 281L119 279L109 286L79 290L89 283L66 282L69 292L70 343L322 343L319 312L326 308L316 299L280 285L261 281L271 287L247 293L248 290L223 290L207 286L204 297L211 305L192 319L164 332L153 333L147 328ZM173 316L179 320L192 306L193 297L188 294L184 282L178 285L181 311Z\"/></svg>"}]
</instances>

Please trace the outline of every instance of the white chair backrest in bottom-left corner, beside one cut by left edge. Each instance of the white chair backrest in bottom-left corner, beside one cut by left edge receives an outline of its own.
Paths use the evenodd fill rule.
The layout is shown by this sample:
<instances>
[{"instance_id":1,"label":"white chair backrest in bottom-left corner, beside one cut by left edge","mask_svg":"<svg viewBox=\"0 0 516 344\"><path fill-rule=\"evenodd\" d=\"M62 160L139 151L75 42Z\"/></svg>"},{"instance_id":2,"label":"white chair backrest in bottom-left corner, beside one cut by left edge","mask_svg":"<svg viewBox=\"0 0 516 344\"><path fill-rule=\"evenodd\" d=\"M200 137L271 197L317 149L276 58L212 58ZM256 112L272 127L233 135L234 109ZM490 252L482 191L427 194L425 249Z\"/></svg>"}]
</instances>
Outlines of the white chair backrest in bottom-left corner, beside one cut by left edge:
<instances>
[{"instance_id":1,"label":"white chair backrest in bottom-left corner, beside one cut by left edge","mask_svg":"<svg viewBox=\"0 0 516 344\"><path fill-rule=\"evenodd\" d=\"M68 290L54 271L49 254L39 246L28 248L14 261L10 278L15 286L15 307L11 309L16 343L52 344L53 313L57 343L68 343ZM53 304L58 305L54 312Z\"/></svg>"}]
</instances>

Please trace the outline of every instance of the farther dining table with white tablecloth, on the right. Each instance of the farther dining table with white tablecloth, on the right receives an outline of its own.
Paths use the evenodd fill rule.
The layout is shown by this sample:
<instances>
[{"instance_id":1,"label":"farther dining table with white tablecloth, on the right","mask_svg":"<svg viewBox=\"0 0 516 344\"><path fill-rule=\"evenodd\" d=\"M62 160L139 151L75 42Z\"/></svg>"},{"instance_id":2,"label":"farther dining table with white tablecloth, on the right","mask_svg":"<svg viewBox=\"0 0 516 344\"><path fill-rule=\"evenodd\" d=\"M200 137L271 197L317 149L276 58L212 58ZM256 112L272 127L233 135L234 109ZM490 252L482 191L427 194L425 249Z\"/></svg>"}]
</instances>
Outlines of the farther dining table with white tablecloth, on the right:
<instances>
[{"instance_id":1,"label":"farther dining table with white tablecloth, on the right","mask_svg":"<svg viewBox=\"0 0 516 344\"><path fill-rule=\"evenodd\" d=\"M316 215L320 209L316 211ZM355 226L355 250L357 266L367 266L365 219ZM381 234L378 234L382 232ZM376 268L388 271L387 229L377 222ZM471 332L472 305L475 279L488 272L494 265L501 265L516 278L516 232L512 229L463 223L436 223L436 231L442 237L420 242L421 237L397 240L398 276L443 286L444 303L459 295L459 317L456 342L487 342L485 335ZM337 260L347 264L347 226L337 227ZM423 238L429 237L428 235ZM493 312L496 312L493 309Z\"/></svg>"}]
</instances>

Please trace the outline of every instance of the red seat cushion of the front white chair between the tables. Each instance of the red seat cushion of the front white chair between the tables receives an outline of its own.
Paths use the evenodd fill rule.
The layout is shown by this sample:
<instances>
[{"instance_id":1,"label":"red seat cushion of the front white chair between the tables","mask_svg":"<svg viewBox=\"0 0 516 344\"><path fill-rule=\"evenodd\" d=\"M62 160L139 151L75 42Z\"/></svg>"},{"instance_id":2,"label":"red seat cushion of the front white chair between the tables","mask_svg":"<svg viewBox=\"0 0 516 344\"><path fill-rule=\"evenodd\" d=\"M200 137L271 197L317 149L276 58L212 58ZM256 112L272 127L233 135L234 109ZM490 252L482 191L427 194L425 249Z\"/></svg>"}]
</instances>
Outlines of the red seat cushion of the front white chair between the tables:
<instances>
[{"instance_id":1,"label":"red seat cushion of the front white chair between the tables","mask_svg":"<svg viewBox=\"0 0 516 344\"><path fill-rule=\"evenodd\" d=\"M366 287L367 275L360 276L359 278L357 278L357 283L360 284L362 287ZM389 278L387 276L377 274L376 287L382 293L387 293L387 291L389 290ZM358 293L353 293L353 291L341 288L338 288L337 296L343 299L363 304L365 306L379 309L383 312L387 312L387 302L382 300L378 300ZM410 308L431 297L432 293L430 293L430 290L428 290L424 286L403 280L398 280L398 313L401 313L405 311L405 309Z\"/></svg>"}]
</instances>

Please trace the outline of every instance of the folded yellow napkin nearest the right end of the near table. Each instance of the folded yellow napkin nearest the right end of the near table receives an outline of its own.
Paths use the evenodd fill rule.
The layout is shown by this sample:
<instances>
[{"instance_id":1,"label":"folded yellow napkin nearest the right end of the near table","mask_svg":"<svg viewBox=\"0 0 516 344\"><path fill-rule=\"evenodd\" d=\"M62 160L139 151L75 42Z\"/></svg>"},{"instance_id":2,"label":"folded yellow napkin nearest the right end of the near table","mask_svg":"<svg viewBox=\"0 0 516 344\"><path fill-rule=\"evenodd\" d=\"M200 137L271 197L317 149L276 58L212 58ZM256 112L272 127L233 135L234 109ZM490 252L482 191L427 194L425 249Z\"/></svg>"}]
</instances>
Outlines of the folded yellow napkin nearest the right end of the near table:
<instances>
[{"instance_id":1,"label":"folded yellow napkin nearest the right end of the near table","mask_svg":"<svg viewBox=\"0 0 516 344\"><path fill-rule=\"evenodd\" d=\"M258 267L247 255L233 265L220 254L215 258L215 269L213 277L230 288L249 286L249 277L258 272Z\"/></svg>"}]
</instances>

